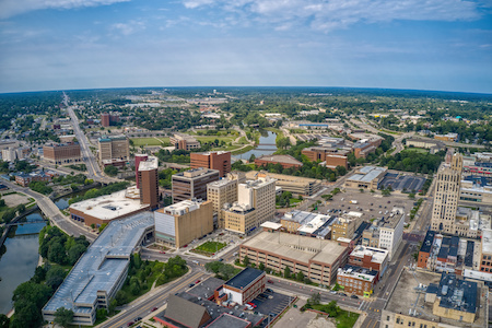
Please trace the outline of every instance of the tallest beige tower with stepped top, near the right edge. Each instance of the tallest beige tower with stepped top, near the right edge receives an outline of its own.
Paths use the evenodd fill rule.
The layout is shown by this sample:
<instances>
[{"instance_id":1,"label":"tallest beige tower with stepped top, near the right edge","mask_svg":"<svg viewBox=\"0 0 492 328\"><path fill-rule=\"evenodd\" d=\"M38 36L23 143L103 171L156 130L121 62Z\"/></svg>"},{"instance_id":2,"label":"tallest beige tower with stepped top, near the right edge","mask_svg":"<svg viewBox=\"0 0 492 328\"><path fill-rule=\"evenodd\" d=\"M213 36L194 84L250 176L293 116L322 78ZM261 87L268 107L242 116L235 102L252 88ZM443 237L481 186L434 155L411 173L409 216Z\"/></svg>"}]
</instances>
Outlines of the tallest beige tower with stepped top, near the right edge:
<instances>
[{"instance_id":1,"label":"tallest beige tower with stepped top, near the right edge","mask_svg":"<svg viewBox=\"0 0 492 328\"><path fill-rule=\"evenodd\" d=\"M432 209L432 230L446 234L455 234L456 211L461 183L462 156L446 154L446 162L437 172L434 207Z\"/></svg>"}]
</instances>

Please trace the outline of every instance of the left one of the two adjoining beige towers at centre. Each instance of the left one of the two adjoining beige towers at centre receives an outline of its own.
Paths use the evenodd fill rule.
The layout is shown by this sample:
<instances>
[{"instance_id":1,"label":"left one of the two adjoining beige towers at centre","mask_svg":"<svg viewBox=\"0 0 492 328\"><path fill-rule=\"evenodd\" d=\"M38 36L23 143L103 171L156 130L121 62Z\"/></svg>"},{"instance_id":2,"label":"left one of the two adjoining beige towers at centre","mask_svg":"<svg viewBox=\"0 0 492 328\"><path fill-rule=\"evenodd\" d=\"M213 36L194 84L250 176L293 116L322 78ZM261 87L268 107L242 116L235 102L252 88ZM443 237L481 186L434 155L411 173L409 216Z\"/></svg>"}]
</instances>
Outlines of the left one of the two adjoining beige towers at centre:
<instances>
[{"instance_id":1,"label":"left one of the two adjoining beige towers at centre","mask_svg":"<svg viewBox=\"0 0 492 328\"><path fill-rule=\"evenodd\" d=\"M224 227L222 209L225 204L237 201L237 179L230 176L219 181L207 185L207 200L213 203L213 212L216 213L218 227Z\"/></svg>"}]
</instances>

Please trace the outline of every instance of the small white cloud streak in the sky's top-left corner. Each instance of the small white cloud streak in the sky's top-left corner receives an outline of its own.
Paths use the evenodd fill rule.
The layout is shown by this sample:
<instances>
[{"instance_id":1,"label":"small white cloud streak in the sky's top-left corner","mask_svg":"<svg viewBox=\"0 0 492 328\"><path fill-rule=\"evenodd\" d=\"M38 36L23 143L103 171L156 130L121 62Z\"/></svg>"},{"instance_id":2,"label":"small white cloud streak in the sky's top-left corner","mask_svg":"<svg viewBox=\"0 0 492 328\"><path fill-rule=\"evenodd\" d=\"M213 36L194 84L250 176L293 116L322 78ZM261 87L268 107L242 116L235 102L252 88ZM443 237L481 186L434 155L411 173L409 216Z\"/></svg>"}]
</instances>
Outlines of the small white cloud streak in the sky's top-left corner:
<instances>
[{"instance_id":1,"label":"small white cloud streak in the sky's top-left corner","mask_svg":"<svg viewBox=\"0 0 492 328\"><path fill-rule=\"evenodd\" d=\"M130 0L1 0L0 19L8 19L21 13L40 9L73 9L108 5L127 1Z\"/></svg>"}]
</instances>

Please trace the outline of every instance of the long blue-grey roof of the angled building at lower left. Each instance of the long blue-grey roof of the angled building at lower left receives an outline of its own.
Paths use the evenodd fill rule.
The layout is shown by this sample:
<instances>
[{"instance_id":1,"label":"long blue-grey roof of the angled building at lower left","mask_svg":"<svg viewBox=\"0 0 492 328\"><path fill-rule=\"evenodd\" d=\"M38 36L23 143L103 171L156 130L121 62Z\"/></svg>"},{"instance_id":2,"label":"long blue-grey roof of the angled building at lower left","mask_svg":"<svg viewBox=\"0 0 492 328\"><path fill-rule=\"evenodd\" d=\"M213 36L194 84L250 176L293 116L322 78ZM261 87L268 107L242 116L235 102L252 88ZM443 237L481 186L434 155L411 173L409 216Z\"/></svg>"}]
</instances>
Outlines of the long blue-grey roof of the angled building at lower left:
<instances>
[{"instance_id":1,"label":"long blue-grey roof of the angled building at lower left","mask_svg":"<svg viewBox=\"0 0 492 328\"><path fill-rule=\"evenodd\" d=\"M154 224L151 212L112 221L70 271L43 311L59 307L89 314L97 291L110 293L129 265L130 256L145 230ZM73 300L73 302L72 302Z\"/></svg>"}]
</instances>

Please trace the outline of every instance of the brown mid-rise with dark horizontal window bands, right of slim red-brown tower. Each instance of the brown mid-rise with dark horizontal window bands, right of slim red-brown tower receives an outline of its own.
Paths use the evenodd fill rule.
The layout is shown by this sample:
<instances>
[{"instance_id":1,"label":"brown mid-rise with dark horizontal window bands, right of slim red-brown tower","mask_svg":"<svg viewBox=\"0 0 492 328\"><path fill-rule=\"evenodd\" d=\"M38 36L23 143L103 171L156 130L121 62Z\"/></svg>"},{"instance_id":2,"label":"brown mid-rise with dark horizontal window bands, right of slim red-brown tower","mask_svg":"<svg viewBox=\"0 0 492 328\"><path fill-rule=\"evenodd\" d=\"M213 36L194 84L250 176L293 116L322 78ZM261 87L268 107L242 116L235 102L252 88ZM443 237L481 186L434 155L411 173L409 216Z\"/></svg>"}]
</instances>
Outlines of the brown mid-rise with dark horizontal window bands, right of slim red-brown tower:
<instances>
[{"instance_id":1,"label":"brown mid-rise with dark horizontal window bands, right of slim red-brown tower","mask_svg":"<svg viewBox=\"0 0 492 328\"><path fill-rule=\"evenodd\" d=\"M219 180L219 171L191 168L173 175L173 202L188 199L207 200L207 185Z\"/></svg>"}]
</instances>

